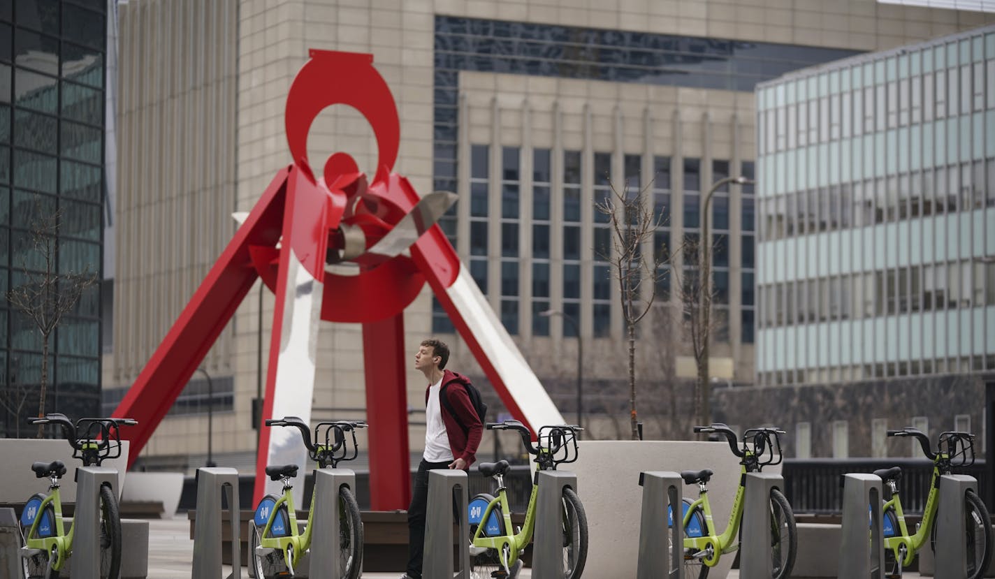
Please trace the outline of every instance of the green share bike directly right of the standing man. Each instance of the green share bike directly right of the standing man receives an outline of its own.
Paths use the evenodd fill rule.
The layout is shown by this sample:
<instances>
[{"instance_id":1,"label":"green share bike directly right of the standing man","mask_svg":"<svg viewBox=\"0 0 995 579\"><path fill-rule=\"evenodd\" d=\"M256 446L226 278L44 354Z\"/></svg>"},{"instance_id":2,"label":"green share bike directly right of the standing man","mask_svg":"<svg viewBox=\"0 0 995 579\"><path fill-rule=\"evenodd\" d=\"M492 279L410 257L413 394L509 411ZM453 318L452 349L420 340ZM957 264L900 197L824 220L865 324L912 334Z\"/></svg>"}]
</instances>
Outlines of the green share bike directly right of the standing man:
<instances>
[{"instance_id":1,"label":"green share bike directly right of the standing man","mask_svg":"<svg viewBox=\"0 0 995 579\"><path fill-rule=\"evenodd\" d=\"M536 442L531 433L516 420L489 423L488 430L513 430L530 455L535 456L538 471L555 471L558 465L577 460L577 433L583 430L574 425L544 426L539 429ZM532 540L535 529L536 496L539 492L539 475L535 474L532 492L528 497L525 521L517 532L511 524L511 508L507 500L504 475L509 470L507 461L482 463L478 470L485 477L497 482L497 497L477 494L470 500L470 576L474 579L513 577L520 568L518 561L525 547ZM570 487L563 488L560 532L563 535L564 579L579 579L587 561L587 515L577 493Z\"/></svg>"}]
</instances>

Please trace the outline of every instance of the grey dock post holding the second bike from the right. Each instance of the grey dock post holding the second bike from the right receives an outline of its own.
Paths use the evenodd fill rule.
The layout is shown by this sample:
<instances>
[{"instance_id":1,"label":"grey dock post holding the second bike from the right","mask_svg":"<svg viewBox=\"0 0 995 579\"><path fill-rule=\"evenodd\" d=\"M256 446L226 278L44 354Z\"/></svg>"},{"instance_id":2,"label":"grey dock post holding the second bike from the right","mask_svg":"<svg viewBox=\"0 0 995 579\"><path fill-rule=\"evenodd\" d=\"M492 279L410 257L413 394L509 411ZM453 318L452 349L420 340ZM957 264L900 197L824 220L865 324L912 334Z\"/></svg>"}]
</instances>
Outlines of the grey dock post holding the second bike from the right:
<instances>
[{"instance_id":1,"label":"grey dock post holding the second bike from the right","mask_svg":"<svg viewBox=\"0 0 995 579\"><path fill-rule=\"evenodd\" d=\"M770 528L770 491L782 488L784 479L774 473L747 473L743 497L742 546L739 576L742 579L769 578L773 572Z\"/></svg>"}]
</instances>

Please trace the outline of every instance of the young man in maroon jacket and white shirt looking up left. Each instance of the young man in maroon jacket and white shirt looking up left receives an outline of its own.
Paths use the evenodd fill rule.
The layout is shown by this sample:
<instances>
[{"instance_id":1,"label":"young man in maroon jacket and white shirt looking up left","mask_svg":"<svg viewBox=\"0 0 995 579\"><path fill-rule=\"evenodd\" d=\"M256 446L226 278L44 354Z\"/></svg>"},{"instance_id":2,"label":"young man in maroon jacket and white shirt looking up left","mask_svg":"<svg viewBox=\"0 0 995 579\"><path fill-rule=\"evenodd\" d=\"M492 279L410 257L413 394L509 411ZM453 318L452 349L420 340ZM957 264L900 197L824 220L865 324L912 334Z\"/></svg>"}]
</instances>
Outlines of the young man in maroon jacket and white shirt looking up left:
<instances>
[{"instance_id":1,"label":"young man in maroon jacket and white shirt looking up left","mask_svg":"<svg viewBox=\"0 0 995 579\"><path fill-rule=\"evenodd\" d=\"M425 510L428 506L429 471L460 469L466 471L476 460L484 425L470 402L464 387L467 379L445 370L449 346L437 339L421 343L415 354L415 368L425 374L425 453L415 475L415 489L408 507L408 569L401 579L422 579L422 555L425 551ZM442 404L444 386L451 414ZM466 430L461 426L466 425ZM466 516L466 513L464 513Z\"/></svg>"}]
</instances>

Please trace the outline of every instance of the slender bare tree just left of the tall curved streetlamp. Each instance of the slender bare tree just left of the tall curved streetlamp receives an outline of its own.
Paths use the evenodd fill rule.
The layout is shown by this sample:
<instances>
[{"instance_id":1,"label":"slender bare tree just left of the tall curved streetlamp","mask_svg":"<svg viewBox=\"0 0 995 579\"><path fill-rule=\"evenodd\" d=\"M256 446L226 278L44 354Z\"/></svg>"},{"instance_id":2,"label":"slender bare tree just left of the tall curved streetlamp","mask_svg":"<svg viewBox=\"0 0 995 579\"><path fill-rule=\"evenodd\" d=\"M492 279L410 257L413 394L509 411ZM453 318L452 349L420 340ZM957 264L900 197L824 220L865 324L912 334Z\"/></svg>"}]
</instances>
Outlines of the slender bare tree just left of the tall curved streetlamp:
<instances>
[{"instance_id":1,"label":"slender bare tree just left of the tall curved streetlamp","mask_svg":"<svg viewBox=\"0 0 995 579\"><path fill-rule=\"evenodd\" d=\"M653 241L653 234L663 217L654 215L653 205L646 202L646 191L652 182L635 195L629 195L628 184L618 190L609 182L611 194L595 203L595 208L608 216L612 230L612 247L596 248L603 259L612 264L612 277L621 290L622 315L629 334L629 414L632 440L639 440L639 420L636 413L636 325L653 307L657 294L659 268L664 252L649 256L643 247ZM643 290L643 284L649 284Z\"/></svg>"}]
</instances>

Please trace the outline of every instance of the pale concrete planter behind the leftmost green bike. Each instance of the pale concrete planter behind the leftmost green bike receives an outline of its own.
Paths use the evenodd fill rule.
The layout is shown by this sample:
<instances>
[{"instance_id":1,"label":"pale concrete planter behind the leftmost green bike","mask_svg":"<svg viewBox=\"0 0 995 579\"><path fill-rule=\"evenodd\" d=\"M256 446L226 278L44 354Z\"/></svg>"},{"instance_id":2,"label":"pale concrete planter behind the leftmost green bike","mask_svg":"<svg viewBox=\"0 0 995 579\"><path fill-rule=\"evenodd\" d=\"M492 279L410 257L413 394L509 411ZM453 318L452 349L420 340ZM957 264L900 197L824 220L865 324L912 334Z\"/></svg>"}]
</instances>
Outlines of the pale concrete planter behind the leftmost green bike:
<instances>
[{"instance_id":1,"label":"pale concrete planter behind the leftmost green bike","mask_svg":"<svg viewBox=\"0 0 995 579\"><path fill-rule=\"evenodd\" d=\"M121 441L121 456L103 462L104 468L117 469L118 497L124 487L127 451L128 442ZM65 439L0 439L0 461L4 465L0 471L0 502L23 502L35 492L45 492L48 481L37 479L31 464L52 461L66 464L67 473L62 478L63 502L76 502L76 469L83 463L73 458L73 449Z\"/></svg>"}]
</instances>

